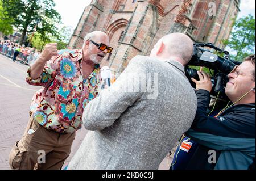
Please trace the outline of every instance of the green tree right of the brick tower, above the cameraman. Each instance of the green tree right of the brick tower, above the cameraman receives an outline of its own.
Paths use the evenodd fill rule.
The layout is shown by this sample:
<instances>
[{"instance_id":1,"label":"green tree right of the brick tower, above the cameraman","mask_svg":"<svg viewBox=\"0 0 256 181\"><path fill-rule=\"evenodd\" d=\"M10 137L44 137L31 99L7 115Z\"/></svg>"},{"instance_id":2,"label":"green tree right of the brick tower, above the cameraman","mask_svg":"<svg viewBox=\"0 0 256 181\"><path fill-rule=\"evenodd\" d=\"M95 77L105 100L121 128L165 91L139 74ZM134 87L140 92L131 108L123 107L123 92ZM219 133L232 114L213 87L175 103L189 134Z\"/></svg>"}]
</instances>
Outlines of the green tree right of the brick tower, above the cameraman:
<instances>
[{"instance_id":1,"label":"green tree right of the brick tower, above the cameraman","mask_svg":"<svg viewBox=\"0 0 256 181\"><path fill-rule=\"evenodd\" d=\"M255 18L249 14L234 22L230 39L223 43L236 51L236 56L230 56L233 60L242 61L249 54L255 54Z\"/></svg>"}]
</instances>

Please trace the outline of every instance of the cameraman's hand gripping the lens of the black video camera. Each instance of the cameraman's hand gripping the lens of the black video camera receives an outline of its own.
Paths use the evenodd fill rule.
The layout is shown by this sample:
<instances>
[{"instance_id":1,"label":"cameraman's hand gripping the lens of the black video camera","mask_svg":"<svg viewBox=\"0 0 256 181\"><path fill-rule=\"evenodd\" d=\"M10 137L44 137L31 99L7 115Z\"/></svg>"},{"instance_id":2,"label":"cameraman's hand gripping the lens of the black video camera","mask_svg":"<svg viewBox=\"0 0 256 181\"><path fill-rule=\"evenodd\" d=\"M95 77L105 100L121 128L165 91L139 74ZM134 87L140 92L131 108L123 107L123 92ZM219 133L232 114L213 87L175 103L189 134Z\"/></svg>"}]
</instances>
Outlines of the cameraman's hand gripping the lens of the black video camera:
<instances>
[{"instance_id":1,"label":"cameraman's hand gripping the lens of the black video camera","mask_svg":"<svg viewBox=\"0 0 256 181\"><path fill-rule=\"evenodd\" d=\"M210 75L204 73L203 71L197 71L197 74L199 75L199 81L197 81L194 78L191 78L193 82L196 83L196 90L204 89L209 92L212 91L212 81L210 81Z\"/></svg>"}]
</instances>

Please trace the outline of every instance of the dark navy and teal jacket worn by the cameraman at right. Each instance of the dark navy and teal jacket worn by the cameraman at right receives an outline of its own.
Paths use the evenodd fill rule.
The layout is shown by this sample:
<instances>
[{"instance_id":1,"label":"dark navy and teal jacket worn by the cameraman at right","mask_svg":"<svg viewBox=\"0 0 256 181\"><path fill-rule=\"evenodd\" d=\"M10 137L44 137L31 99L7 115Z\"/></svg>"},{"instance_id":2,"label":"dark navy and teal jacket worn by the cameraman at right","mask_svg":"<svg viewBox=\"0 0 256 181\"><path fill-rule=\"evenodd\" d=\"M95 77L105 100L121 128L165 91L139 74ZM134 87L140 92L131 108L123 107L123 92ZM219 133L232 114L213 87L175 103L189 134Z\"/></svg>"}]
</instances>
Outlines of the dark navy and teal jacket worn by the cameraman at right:
<instances>
[{"instance_id":1,"label":"dark navy and teal jacket worn by the cameraman at right","mask_svg":"<svg viewBox=\"0 0 256 181\"><path fill-rule=\"evenodd\" d=\"M255 103L234 105L217 117L207 117L210 93L197 90L196 95L196 117L185 134L199 148L187 169L251 168L255 164ZM211 149L216 151L215 164Z\"/></svg>"}]
</instances>

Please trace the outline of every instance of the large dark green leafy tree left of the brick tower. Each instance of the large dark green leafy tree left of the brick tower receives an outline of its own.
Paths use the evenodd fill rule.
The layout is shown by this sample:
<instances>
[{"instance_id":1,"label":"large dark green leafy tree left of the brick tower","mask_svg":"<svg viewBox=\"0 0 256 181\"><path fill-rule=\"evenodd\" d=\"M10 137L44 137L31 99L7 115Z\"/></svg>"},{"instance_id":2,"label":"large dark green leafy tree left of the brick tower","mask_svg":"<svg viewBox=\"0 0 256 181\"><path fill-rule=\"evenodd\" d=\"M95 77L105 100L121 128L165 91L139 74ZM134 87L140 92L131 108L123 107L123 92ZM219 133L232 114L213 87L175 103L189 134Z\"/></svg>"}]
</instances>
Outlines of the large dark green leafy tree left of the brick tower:
<instances>
[{"instance_id":1,"label":"large dark green leafy tree left of the brick tower","mask_svg":"<svg viewBox=\"0 0 256 181\"><path fill-rule=\"evenodd\" d=\"M14 26L22 32L20 44L27 33L36 31L42 37L59 36L56 24L61 22L60 14L54 9L53 0L2 0L3 8L14 19Z\"/></svg>"}]
</instances>

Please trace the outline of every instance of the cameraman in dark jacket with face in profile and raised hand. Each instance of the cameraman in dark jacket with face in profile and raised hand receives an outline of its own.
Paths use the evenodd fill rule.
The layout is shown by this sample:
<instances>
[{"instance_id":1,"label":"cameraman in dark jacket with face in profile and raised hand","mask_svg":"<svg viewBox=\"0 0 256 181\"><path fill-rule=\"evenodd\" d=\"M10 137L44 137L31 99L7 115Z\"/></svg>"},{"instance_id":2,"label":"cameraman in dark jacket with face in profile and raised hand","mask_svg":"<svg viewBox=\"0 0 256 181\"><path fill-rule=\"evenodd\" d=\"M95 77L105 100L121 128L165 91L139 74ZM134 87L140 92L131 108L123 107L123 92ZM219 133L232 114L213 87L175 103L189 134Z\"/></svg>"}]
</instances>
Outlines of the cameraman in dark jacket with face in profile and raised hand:
<instances>
[{"instance_id":1,"label":"cameraman in dark jacket with face in profile and raised hand","mask_svg":"<svg viewBox=\"0 0 256 181\"><path fill-rule=\"evenodd\" d=\"M212 82L197 74L197 112L181 144L187 149L176 150L170 169L255 169L255 54L229 73L225 93L232 104L214 117L207 115Z\"/></svg>"}]
</instances>

